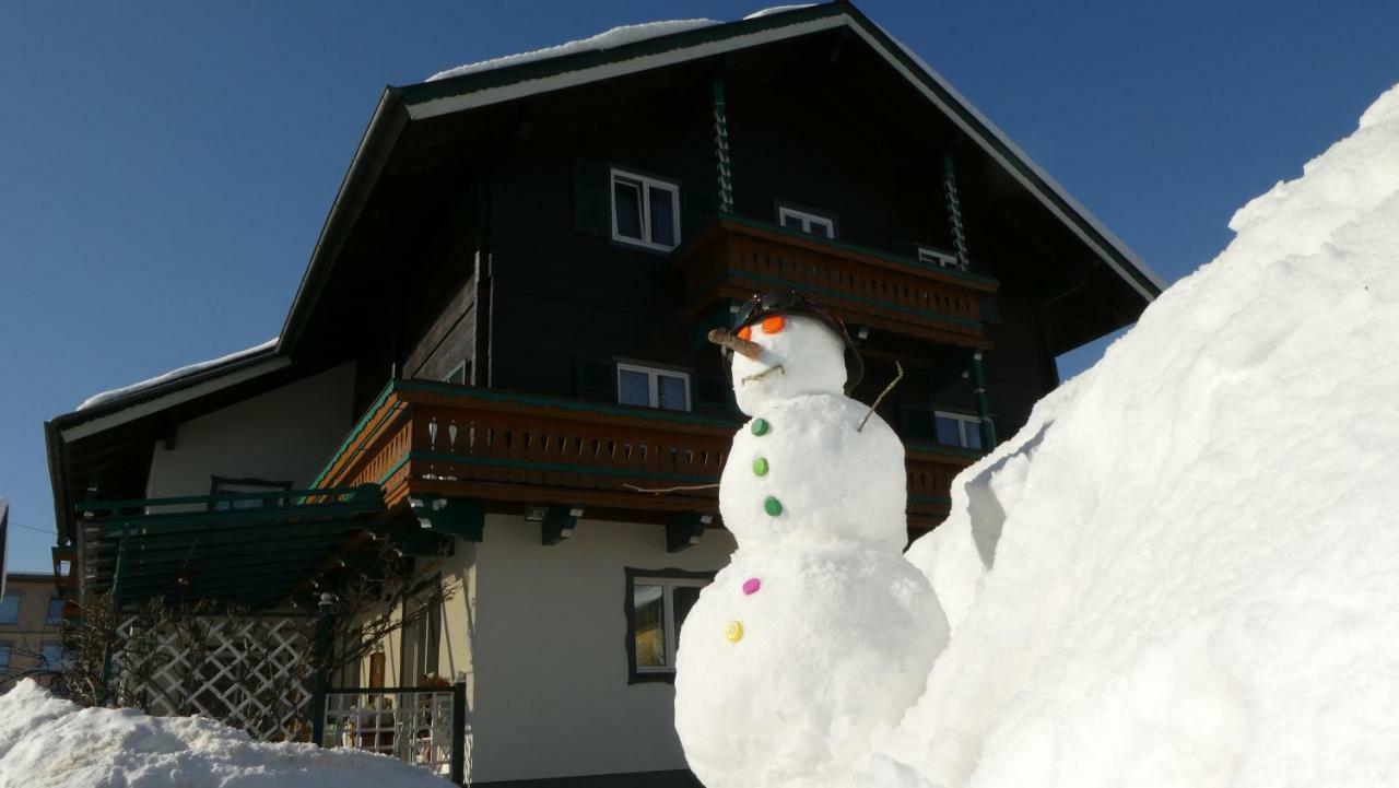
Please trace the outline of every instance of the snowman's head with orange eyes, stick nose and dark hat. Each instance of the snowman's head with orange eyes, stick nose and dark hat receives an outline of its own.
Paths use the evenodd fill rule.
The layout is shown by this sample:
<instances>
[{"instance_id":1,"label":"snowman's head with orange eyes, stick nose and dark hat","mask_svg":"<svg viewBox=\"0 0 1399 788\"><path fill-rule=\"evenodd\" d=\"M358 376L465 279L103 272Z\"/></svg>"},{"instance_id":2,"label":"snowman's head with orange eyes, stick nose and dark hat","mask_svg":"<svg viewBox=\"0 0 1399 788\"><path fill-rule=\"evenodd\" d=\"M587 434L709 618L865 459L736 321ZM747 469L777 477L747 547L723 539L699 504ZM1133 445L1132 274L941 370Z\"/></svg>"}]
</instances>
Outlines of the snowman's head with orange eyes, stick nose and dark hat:
<instances>
[{"instance_id":1,"label":"snowman's head with orange eyes, stick nose and dark hat","mask_svg":"<svg viewBox=\"0 0 1399 788\"><path fill-rule=\"evenodd\" d=\"M754 297L740 309L734 335L747 353L727 351L730 379L748 416L796 395L844 393L846 354L855 358L852 386L863 371L845 326L795 293Z\"/></svg>"}]
</instances>

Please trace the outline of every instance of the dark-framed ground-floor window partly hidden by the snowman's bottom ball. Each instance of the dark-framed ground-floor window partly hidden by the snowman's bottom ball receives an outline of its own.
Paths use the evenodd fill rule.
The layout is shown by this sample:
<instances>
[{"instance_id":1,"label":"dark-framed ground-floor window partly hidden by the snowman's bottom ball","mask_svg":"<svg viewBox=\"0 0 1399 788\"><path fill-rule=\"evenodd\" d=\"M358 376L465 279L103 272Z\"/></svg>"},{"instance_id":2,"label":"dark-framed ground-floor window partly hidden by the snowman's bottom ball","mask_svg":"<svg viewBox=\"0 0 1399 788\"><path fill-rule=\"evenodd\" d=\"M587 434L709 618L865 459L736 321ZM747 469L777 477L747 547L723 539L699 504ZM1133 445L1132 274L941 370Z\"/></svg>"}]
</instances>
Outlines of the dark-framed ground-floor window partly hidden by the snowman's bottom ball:
<instances>
[{"instance_id":1,"label":"dark-framed ground-floor window partly hidden by the snowman's bottom ball","mask_svg":"<svg viewBox=\"0 0 1399 788\"><path fill-rule=\"evenodd\" d=\"M680 627L713 572L627 570L628 683L672 682Z\"/></svg>"}]
</instances>

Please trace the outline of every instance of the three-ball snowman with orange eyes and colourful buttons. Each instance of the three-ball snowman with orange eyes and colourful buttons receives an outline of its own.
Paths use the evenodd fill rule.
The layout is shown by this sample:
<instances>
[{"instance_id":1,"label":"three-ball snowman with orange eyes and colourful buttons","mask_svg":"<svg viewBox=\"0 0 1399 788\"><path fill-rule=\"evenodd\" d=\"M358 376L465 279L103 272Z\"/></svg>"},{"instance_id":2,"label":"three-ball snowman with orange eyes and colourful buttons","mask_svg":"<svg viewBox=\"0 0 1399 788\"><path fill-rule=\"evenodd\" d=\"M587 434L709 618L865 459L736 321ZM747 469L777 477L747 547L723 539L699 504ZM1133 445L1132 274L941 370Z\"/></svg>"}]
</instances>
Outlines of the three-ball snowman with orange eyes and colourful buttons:
<instances>
[{"instance_id":1,"label":"three-ball snowman with orange eyes and colourful buttons","mask_svg":"<svg viewBox=\"0 0 1399 788\"><path fill-rule=\"evenodd\" d=\"M902 556L904 446L845 396L859 354L806 298L754 297L711 340L751 418L719 486L739 549L680 633L676 731L706 788L856 785L947 644Z\"/></svg>"}]
</instances>

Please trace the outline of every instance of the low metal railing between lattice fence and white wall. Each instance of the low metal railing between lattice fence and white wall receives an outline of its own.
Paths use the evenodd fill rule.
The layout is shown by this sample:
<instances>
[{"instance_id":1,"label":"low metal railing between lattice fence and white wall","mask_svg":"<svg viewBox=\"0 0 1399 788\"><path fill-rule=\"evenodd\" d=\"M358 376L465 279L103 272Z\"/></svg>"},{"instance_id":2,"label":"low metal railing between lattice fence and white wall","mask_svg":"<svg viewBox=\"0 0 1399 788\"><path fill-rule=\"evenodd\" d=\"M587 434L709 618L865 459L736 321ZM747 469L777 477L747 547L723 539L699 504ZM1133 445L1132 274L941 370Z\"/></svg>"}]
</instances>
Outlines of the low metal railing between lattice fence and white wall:
<instances>
[{"instance_id":1,"label":"low metal railing between lattice fence and white wall","mask_svg":"<svg viewBox=\"0 0 1399 788\"><path fill-rule=\"evenodd\" d=\"M466 684L326 690L323 747L396 757L466 778Z\"/></svg>"}]
</instances>

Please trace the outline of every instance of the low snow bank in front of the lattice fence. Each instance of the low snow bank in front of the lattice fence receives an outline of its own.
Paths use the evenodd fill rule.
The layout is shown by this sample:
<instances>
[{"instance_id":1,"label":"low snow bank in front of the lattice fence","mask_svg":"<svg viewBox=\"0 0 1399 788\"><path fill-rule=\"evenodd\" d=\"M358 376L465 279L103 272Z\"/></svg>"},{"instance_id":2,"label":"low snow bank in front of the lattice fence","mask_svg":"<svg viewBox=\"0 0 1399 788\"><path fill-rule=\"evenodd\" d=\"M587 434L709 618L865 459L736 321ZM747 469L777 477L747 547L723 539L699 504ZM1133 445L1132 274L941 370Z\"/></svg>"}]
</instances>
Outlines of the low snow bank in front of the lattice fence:
<instances>
[{"instance_id":1,"label":"low snow bank in front of the lattice fence","mask_svg":"<svg viewBox=\"0 0 1399 788\"><path fill-rule=\"evenodd\" d=\"M0 696L0 788L448 788L355 750L266 745L200 717L80 708L32 680Z\"/></svg>"}]
</instances>

